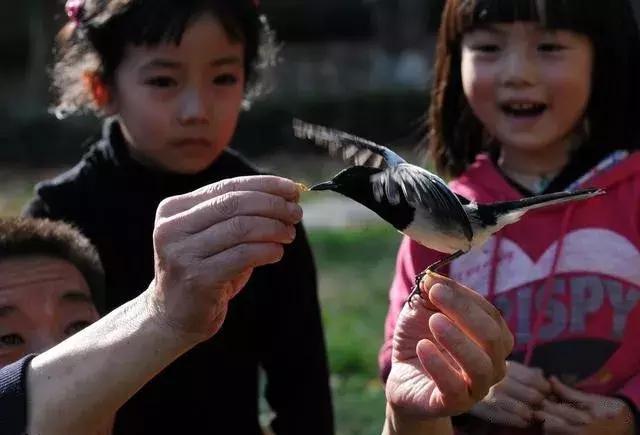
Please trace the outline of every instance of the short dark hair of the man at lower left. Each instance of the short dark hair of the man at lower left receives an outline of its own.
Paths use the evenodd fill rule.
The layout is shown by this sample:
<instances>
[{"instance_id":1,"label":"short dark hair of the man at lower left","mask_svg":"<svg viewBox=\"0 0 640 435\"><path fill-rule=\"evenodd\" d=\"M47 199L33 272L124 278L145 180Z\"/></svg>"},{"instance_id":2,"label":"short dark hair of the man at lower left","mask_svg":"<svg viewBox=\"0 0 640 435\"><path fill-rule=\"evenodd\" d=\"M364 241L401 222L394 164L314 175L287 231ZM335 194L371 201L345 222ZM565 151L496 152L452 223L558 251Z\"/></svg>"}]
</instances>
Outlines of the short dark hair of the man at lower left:
<instances>
[{"instance_id":1,"label":"short dark hair of the man at lower left","mask_svg":"<svg viewBox=\"0 0 640 435\"><path fill-rule=\"evenodd\" d=\"M102 313L104 270L98 252L78 230L48 219L0 219L0 261L32 255L50 256L73 264L87 281L93 303Z\"/></svg>"}]
</instances>

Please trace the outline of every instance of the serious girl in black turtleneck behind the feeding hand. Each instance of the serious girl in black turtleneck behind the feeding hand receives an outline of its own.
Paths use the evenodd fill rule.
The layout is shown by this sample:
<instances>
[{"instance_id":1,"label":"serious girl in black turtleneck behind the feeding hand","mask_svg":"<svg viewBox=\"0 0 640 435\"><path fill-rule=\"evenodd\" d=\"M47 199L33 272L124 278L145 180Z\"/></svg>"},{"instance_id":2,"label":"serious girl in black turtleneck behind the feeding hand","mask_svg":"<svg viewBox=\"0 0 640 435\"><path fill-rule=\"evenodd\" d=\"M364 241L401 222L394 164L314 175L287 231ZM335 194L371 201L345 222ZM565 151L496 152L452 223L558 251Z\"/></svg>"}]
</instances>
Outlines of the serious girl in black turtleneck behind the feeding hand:
<instances>
[{"instance_id":1,"label":"serious girl in black turtleneck behind the feeding hand","mask_svg":"<svg viewBox=\"0 0 640 435\"><path fill-rule=\"evenodd\" d=\"M227 147L273 47L253 0L69 1L67 11L53 70L58 113L93 110L105 117L103 136L36 187L26 214L73 223L91 239L113 309L153 278L161 201L257 173ZM283 260L256 270L231 302L220 333L133 397L114 433L261 433L259 368L275 433L333 433L316 272L296 229Z\"/></svg>"}]
</instances>

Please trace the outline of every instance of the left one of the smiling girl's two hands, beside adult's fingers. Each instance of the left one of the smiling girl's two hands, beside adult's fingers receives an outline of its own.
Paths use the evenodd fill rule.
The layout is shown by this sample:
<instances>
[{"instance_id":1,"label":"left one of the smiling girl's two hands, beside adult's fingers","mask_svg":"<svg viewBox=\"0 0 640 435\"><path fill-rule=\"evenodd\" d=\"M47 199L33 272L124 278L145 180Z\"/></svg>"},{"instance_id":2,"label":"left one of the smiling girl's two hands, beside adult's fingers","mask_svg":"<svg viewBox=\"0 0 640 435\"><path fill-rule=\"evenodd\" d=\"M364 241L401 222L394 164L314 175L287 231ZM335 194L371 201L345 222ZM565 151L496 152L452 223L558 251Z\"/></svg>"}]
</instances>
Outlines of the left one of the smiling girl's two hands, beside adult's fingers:
<instances>
[{"instance_id":1,"label":"left one of the smiling girl's two hands, beside adult's fingers","mask_svg":"<svg viewBox=\"0 0 640 435\"><path fill-rule=\"evenodd\" d=\"M493 424L525 428L550 392L551 384L542 370L507 361L505 378L491 387L471 414Z\"/></svg>"}]
</instances>

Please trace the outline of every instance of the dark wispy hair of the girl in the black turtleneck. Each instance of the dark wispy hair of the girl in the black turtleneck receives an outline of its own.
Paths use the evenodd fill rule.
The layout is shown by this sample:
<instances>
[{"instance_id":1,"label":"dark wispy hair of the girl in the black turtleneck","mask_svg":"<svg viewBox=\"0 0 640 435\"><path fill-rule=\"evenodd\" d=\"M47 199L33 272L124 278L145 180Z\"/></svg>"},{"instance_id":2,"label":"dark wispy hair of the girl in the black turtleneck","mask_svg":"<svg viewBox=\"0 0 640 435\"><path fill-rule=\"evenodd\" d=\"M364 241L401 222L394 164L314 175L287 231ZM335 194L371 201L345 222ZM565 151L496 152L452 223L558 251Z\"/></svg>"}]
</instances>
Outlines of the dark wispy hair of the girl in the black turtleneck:
<instances>
[{"instance_id":1,"label":"dark wispy hair of the girl in the black turtleneck","mask_svg":"<svg viewBox=\"0 0 640 435\"><path fill-rule=\"evenodd\" d=\"M261 73L275 62L275 36L255 0L85 0L60 31L53 67L59 117L98 111L88 77L112 85L128 45L179 44L188 25L211 13L233 41L244 44L247 99L262 90ZM87 75L89 74L89 75Z\"/></svg>"}]
</instances>

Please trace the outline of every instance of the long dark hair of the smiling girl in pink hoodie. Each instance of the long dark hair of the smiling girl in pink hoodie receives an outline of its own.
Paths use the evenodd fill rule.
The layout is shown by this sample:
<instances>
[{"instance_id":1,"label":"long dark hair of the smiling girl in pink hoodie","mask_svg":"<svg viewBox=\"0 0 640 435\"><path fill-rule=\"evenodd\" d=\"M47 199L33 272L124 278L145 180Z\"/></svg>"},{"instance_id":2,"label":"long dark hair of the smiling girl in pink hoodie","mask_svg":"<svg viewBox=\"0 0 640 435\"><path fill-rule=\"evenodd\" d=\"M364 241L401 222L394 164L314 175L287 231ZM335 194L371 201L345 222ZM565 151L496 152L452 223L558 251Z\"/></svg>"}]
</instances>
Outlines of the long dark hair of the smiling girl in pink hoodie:
<instances>
[{"instance_id":1,"label":"long dark hair of the smiling girl in pink hoodie","mask_svg":"<svg viewBox=\"0 0 640 435\"><path fill-rule=\"evenodd\" d=\"M428 114L429 151L439 171L460 175L486 148L462 88L465 33L491 23L536 21L584 34L594 47L589 140L580 152L637 148L640 35L628 0L447 0L438 35Z\"/></svg>"}]
</instances>

